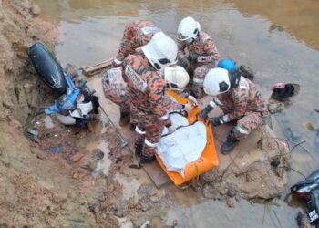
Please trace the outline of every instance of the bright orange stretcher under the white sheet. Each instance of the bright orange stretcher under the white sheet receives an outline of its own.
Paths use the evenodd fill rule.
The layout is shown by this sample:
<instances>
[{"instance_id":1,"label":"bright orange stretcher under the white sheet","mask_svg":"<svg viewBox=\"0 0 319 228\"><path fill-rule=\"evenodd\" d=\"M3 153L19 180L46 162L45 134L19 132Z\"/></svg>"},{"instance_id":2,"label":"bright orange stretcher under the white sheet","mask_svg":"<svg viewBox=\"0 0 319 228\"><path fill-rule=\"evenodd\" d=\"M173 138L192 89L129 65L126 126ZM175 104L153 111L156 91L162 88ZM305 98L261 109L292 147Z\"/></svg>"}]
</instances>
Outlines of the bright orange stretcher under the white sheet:
<instances>
[{"instance_id":1,"label":"bright orange stretcher under the white sheet","mask_svg":"<svg viewBox=\"0 0 319 228\"><path fill-rule=\"evenodd\" d=\"M168 91L168 94L172 98L175 98L175 100L178 101L180 104L186 104L187 102L189 102L188 99L180 98L176 93L174 93L171 90ZM180 186L181 184L187 181L191 181L197 178L205 171L210 171L211 169L216 168L219 165L217 151L215 147L215 140L211 130L211 123L204 119L198 119L197 114L199 112L200 112L199 107L195 107L194 109L190 111L187 119L190 124L195 122L196 120L202 121L205 124L206 133L207 133L207 143L206 143L206 147L201 153L201 158L199 158L196 161L192 161L186 165L184 169L184 177L182 177L179 172L168 171L165 165L163 164L163 162L160 160L160 156L156 155L156 159L160 163L160 167L170 177L170 180L173 181L174 184L178 186Z\"/></svg>"}]
</instances>

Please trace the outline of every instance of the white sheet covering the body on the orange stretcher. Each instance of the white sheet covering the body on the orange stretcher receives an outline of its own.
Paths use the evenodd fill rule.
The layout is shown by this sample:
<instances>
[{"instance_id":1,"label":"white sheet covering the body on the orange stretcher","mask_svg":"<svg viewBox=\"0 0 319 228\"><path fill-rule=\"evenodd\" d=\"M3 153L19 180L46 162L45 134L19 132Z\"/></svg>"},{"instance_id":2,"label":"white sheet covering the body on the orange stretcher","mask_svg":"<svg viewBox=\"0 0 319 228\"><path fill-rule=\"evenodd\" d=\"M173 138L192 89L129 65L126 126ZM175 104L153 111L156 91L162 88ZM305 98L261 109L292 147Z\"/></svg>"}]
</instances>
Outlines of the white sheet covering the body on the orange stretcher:
<instances>
[{"instance_id":1,"label":"white sheet covering the body on the orange stretcher","mask_svg":"<svg viewBox=\"0 0 319 228\"><path fill-rule=\"evenodd\" d=\"M179 114L171 114L171 121L176 126L187 126L186 118ZM166 134L167 130L163 131ZM201 157L206 146L206 128L202 122L176 130L162 137L158 144L158 154L168 171L180 172L184 176L184 168Z\"/></svg>"}]
</instances>

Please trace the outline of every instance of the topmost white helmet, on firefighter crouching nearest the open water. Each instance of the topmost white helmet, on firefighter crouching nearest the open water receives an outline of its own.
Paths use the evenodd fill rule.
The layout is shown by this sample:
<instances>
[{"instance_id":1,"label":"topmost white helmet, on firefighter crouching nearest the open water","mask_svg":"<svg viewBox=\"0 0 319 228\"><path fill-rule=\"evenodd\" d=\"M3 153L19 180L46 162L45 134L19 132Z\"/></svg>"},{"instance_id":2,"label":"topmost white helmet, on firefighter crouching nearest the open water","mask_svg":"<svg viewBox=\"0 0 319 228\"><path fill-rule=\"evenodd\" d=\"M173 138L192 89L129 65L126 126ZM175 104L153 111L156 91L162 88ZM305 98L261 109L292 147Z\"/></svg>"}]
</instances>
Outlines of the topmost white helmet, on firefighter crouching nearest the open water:
<instances>
[{"instance_id":1,"label":"topmost white helmet, on firefighter crouching nearest the open water","mask_svg":"<svg viewBox=\"0 0 319 228\"><path fill-rule=\"evenodd\" d=\"M182 42L192 43L200 31L200 23L191 16L185 17L180 21L177 29L177 39Z\"/></svg>"}]
</instances>

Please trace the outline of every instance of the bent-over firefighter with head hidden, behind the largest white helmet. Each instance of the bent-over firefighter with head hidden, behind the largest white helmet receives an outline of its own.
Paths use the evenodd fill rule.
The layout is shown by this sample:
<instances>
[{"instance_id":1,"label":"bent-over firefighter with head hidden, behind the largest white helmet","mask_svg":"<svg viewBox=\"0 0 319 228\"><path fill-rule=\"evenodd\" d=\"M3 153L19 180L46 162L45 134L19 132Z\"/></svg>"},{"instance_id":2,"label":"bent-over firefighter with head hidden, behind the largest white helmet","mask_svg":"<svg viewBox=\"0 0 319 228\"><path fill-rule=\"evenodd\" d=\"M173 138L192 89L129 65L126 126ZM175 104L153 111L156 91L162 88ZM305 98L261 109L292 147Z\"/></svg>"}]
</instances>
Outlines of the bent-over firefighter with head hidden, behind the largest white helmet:
<instances>
[{"instance_id":1,"label":"bent-over firefighter with head hidden, behind the largest white helmet","mask_svg":"<svg viewBox=\"0 0 319 228\"><path fill-rule=\"evenodd\" d=\"M113 66L119 67L125 57L135 53L136 48L148 44L151 37L160 31L160 28L154 26L150 21L135 21L127 24L118 48L118 54L113 60Z\"/></svg>"}]
</instances>

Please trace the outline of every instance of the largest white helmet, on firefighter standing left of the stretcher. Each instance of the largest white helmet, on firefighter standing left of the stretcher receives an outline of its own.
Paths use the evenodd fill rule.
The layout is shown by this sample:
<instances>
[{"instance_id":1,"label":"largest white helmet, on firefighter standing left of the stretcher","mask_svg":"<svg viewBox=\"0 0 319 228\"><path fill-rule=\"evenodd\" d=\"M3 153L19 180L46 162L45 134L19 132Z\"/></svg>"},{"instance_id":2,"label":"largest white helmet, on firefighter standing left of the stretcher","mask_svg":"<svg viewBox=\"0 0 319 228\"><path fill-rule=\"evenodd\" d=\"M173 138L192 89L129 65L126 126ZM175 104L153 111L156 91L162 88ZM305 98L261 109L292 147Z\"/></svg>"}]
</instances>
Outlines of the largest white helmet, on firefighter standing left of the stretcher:
<instances>
[{"instance_id":1,"label":"largest white helmet, on firefighter standing left of the stretcher","mask_svg":"<svg viewBox=\"0 0 319 228\"><path fill-rule=\"evenodd\" d=\"M178 47L170 36L158 32L146 46L142 47L142 51L149 63L157 70L161 70L176 63Z\"/></svg>"}]
</instances>

